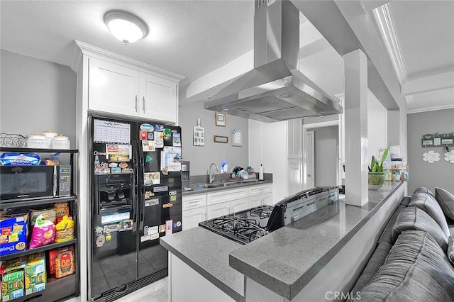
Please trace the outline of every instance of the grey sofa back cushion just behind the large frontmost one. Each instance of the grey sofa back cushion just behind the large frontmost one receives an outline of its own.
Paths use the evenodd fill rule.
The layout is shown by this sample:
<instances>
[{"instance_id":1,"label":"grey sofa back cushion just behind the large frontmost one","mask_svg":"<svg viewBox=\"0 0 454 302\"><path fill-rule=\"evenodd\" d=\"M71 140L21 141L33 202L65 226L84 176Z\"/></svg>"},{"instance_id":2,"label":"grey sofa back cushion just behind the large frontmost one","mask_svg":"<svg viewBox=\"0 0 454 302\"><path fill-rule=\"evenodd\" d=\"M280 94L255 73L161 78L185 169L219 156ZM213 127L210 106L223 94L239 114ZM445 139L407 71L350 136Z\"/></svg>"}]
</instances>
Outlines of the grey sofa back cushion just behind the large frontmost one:
<instances>
[{"instance_id":1,"label":"grey sofa back cushion just behind the large frontmost one","mask_svg":"<svg viewBox=\"0 0 454 302\"><path fill-rule=\"evenodd\" d=\"M397 237L404 230L422 230L430 233L444 252L448 250L448 237L445 236L443 230L431 216L416 206L409 206L400 211L391 230L392 240L396 242Z\"/></svg>"}]
</instances>

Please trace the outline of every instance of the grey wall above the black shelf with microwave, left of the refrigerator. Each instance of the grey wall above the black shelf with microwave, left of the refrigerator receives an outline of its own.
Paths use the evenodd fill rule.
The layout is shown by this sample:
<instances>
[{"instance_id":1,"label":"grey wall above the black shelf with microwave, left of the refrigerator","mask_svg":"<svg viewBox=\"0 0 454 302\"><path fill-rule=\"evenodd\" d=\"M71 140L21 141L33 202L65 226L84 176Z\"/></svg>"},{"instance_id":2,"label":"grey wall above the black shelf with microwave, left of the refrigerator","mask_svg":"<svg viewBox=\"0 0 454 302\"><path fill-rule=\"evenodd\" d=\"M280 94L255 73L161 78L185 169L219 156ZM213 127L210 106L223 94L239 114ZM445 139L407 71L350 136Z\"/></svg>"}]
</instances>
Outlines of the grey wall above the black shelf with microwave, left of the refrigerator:
<instances>
[{"instance_id":1,"label":"grey wall above the black shelf with microwave, left of the refrigerator","mask_svg":"<svg viewBox=\"0 0 454 302\"><path fill-rule=\"evenodd\" d=\"M76 79L70 67L1 50L0 131L45 130L70 137L75 147Z\"/></svg>"}]
</instances>

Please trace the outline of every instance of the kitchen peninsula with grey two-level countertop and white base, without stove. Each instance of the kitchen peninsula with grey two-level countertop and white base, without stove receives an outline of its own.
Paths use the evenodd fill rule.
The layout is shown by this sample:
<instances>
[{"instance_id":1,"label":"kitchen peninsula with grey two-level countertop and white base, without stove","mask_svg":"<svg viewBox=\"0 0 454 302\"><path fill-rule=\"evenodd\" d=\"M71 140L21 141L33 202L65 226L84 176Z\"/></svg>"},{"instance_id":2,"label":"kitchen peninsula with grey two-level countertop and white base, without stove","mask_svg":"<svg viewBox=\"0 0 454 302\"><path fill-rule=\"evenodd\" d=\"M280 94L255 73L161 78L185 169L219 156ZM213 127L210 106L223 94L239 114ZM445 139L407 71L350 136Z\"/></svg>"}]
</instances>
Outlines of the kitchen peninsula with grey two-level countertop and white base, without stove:
<instances>
[{"instance_id":1,"label":"kitchen peninsula with grey two-level countertop and white base, without stove","mask_svg":"<svg viewBox=\"0 0 454 302\"><path fill-rule=\"evenodd\" d=\"M200 227L162 237L171 254L170 298L178 301L178 289L189 300L209 301L196 282L184 291L181 275L189 271L179 272L181 264L195 273L192 281L200 276L223 294L217 301L319 301L327 291L348 291L405 189L404 183L387 183L370 190L362 207L341 198L248 245Z\"/></svg>"}]
</instances>

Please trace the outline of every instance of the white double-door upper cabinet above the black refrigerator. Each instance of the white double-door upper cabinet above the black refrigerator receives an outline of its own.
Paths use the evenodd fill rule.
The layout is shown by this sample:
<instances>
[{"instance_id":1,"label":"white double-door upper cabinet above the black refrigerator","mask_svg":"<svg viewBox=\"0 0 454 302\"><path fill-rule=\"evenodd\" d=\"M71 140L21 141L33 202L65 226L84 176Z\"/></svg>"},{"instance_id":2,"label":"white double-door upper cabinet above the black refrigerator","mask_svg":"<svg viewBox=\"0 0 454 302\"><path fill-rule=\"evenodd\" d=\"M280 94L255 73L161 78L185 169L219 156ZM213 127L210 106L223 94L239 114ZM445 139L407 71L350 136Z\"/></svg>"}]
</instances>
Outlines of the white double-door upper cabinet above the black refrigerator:
<instances>
[{"instance_id":1,"label":"white double-door upper cabinet above the black refrigerator","mask_svg":"<svg viewBox=\"0 0 454 302\"><path fill-rule=\"evenodd\" d=\"M184 77L77 42L82 50L82 101L88 111L178 123L178 82ZM80 72L80 67L74 65ZM83 107L82 107L83 108Z\"/></svg>"}]
</instances>

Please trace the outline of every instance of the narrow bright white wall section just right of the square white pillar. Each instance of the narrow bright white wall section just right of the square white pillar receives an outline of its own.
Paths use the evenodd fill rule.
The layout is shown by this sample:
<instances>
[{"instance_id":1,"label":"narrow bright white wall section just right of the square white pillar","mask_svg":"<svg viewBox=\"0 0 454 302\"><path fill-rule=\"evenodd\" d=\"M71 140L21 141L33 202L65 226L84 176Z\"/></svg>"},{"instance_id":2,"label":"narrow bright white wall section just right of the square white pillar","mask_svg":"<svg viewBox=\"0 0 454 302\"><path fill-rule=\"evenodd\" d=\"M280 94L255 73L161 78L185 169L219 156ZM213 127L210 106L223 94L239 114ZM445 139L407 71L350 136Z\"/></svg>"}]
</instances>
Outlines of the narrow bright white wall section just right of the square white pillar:
<instances>
[{"instance_id":1,"label":"narrow bright white wall section just right of the square white pillar","mask_svg":"<svg viewBox=\"0 0 454 302\"><path fill-rule=\"evenodd\" d=\"M382 103L367 91L367 160L370 165L372 155L378 158L380 147L387 146L387 110ZM399 131L399 129L396 129ZM347 150L348 152L348 146Z\"/></svg>"}]
</instances>

